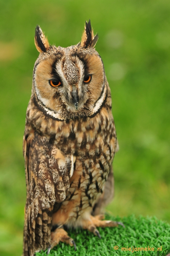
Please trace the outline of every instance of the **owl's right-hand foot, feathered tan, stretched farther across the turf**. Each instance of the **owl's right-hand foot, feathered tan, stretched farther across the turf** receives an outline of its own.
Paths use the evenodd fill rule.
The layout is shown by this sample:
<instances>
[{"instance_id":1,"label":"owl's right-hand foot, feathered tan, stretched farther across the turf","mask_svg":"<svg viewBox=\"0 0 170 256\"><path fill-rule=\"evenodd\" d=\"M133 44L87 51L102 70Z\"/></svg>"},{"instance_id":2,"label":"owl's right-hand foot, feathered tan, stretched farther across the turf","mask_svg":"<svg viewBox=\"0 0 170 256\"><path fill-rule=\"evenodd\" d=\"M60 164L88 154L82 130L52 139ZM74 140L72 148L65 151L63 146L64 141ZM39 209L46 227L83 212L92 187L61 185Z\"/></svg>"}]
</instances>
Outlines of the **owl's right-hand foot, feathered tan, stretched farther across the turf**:
<instances>
[{"instance_id":1,"label":"owl's right-hand foot, feathered tan, stretched farther across the turf","mask_svg":"<svg viewBox=\"0 0 170 256\"><path fill-rule=\"evenodd\" d=\"M99 231L97 230L96 227L117 227L118 225L123 225L122 222L118 221L112 221L112 220L102 220L104 219L104 215L96 215L96 216L90 216L90 220L83 220L83 228L88 229L90 232L93 232L95 236L99 236L101 238Z\"/></svg>"}]
</instances>

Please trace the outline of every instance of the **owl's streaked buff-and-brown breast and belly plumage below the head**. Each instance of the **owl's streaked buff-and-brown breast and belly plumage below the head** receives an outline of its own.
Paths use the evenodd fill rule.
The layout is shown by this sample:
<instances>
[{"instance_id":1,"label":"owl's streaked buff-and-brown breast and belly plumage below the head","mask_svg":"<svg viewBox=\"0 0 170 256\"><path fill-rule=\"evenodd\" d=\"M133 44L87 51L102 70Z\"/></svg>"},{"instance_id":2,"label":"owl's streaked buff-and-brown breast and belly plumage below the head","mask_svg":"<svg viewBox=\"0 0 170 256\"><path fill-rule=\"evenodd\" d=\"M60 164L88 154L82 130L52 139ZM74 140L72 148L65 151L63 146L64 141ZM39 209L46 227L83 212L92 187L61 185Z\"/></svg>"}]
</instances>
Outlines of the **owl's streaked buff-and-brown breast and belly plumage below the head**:
<instances>
[{"instance_id":1,"label":"owl's streaked buff-and-brown breast and belly plumage below the head","mask_svg":"<svg viewBox=\"0 0 170 256\"><path fill-rule=\"evenodd\" d=\"M34 118L28 129L36 129L65 155L76 156L70 189L59 210L54 213L54 219L59 222L57 224L68 222L73 225L85 212L92 210L104 191L112 166L117 142L110 99L94 117L70 121L55 121L37 111L32 102L30 106L27 120L31 119L31 115Z\"/></svg>"}]
</instances>

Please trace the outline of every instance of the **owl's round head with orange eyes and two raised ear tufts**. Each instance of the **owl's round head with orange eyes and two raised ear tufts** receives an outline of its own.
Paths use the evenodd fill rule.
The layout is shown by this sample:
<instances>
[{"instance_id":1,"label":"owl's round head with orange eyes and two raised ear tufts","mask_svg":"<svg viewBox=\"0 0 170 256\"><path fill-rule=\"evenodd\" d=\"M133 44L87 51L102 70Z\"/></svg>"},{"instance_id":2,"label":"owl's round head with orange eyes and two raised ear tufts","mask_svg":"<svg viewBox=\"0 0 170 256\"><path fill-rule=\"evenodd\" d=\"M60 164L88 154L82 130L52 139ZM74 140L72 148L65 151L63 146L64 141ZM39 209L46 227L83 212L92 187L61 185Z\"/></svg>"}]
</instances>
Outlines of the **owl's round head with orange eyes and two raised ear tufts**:
<instances>
[{"instance_id":1,"label":"owl's round head with orange eyes and two raised ear tufts","mask_svg":"<svg viewBox=\"0 0 170 256\"><path fill-rule=\"evenodd\" d=\"M90 20L85 23L81 42L67 48L48 43L39 26L35 46L40 52L33 71L36 105L54 119L87 117L97 113L106 98L105 71L94 49Z\"/></svg>"}]
</instances>

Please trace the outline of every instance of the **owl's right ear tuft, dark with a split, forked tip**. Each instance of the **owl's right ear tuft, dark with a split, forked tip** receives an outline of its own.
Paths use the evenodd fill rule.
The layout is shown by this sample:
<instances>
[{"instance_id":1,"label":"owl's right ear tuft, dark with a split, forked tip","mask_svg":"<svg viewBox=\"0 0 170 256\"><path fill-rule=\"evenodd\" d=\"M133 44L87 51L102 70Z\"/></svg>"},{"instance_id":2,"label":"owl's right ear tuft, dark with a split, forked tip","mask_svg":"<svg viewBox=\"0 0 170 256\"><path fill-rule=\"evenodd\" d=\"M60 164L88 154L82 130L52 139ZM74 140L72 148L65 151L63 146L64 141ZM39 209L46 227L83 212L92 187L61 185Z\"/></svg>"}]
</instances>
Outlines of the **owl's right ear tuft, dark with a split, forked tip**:
<instances>
[{"instance_id":1,"label":"owl's right ear tuft, dark with a split, forked tip","mask_svg":"<svg viewBox=\"0 0 170 256\"><path fill-rule=\"evenodd\" d=\"M94 47L97 43L98 38L99 38L98 34L96 34L94 36L94 32L93 32L93 29L91 27L90 20L89 20L88 23L86 21L85 22L85 30L84 30L83 36L81 38L80 46L82 48Z\"/></svg>"}]
</instances>

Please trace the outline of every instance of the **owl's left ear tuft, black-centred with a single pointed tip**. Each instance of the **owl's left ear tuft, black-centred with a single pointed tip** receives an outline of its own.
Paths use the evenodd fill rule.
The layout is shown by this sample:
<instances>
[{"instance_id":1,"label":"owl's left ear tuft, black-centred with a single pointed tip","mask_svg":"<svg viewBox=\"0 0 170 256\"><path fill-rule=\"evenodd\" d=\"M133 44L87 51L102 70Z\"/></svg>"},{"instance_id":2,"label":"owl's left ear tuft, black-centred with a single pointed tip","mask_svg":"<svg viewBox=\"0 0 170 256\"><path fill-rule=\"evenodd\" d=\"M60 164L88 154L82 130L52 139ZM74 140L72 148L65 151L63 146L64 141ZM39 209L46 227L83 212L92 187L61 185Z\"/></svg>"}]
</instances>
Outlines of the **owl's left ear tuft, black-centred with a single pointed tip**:
<instances>
[{"instance_id":1,"label":"owl's left ear tuft, black-centred with a single pointed tip","mask_svg":"<svg viewBox=\"0 0 170 256\"><path fill-rule=\"evenodd\" d=\"M48 39L44 36L42 29L40 26L35 28L35 38L34 38L35 46L37 51L39 52L47 52L49 48Z\"/></svg>"}]
</instances>

